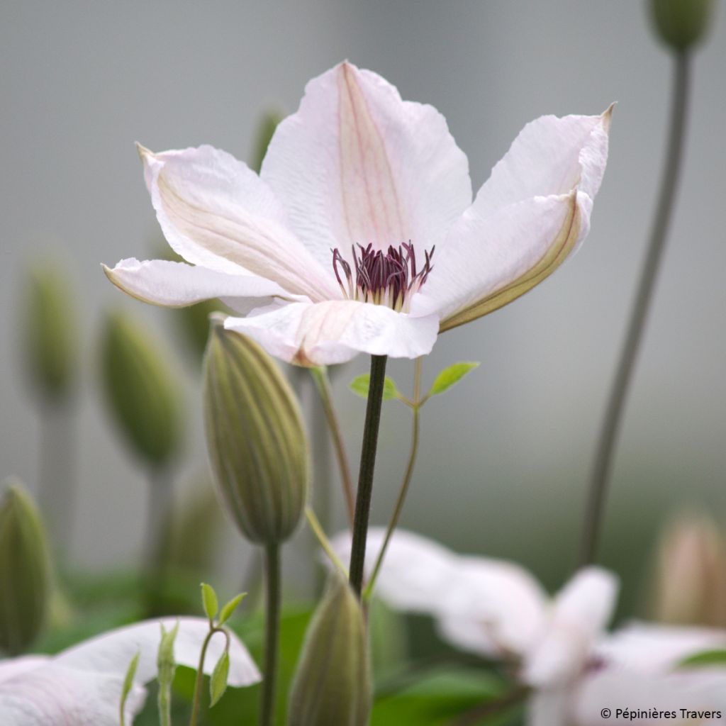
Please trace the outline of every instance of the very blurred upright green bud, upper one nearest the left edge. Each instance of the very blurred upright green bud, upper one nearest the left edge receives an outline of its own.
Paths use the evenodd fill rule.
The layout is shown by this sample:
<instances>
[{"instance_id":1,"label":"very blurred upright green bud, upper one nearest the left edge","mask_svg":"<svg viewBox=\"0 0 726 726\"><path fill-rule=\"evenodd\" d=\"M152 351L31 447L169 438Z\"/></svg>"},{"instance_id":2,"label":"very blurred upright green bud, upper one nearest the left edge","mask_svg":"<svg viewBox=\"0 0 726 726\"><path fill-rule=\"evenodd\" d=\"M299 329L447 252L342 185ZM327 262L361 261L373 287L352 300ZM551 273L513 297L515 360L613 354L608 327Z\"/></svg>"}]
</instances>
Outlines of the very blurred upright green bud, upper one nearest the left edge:
<instances>
[{"instance_id":1,"label":"very blurred upright green bud, upper one nearest the left edge","mask_svg":"<svg viewBox=\"0 0 726 726\"><path fill-rule=\"evenodd\" d=\"M78 326L70 285L57 265L30 268L25 301L23 348L28 375L41 396L68 396L78 366Z\"/></svg>"}]
</instances>

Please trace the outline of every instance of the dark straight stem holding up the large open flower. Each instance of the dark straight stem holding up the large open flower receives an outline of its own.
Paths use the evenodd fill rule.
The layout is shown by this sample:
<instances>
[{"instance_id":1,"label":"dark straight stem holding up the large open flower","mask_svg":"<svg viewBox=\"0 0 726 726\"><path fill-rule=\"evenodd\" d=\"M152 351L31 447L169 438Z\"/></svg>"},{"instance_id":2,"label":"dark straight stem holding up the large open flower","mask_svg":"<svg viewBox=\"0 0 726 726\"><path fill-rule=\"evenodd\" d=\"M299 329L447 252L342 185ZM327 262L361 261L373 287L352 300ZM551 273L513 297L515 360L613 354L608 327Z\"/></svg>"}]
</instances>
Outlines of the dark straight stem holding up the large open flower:
<instances>
[{"instance_id":1,"label":"dark straight stem holding up the large open flower","mask_svg":"<svg viewBox=\"0 0 726 726\"><path fill-rule=\"evenodd\" d=\"M368 404L363 428L361 465L358 474L358 494L353 521L353 544L351 545L350 583L356 595L361 594L365 564L365 546L368 536L368 516L373 492L373 470L378 447L380 408L383 404L383 384L386 380L386 356L371 356Z\"/></svg>"}]
</instances>

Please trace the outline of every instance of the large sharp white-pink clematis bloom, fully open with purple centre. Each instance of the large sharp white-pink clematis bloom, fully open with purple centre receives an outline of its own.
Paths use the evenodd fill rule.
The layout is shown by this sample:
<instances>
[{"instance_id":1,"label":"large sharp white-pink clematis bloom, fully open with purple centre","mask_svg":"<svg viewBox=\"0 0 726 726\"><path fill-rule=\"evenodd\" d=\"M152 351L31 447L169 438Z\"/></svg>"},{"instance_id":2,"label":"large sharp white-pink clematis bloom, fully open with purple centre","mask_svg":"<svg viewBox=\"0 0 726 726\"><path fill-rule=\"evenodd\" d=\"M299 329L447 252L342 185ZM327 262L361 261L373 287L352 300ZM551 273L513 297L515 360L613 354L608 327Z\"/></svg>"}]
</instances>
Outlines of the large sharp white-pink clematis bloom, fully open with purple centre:
<instances>
[{"instance_id":1,"label":"large sharp white-pink clematis bloom, fully open with purple centre","mask_svg":"<svg viewBox=\"0 0 726 726\"><path fill-rule=\"evenodd\" d=\"M439 332L544 280L584 240L610 110L526 126L472 201L444 117L348 62L308 83L259 176L203 146L140 147L166 239L185 263L105 272L144 301L222 298L226 327L302 365L415 358Z\"/></svg>"}]
</instances>

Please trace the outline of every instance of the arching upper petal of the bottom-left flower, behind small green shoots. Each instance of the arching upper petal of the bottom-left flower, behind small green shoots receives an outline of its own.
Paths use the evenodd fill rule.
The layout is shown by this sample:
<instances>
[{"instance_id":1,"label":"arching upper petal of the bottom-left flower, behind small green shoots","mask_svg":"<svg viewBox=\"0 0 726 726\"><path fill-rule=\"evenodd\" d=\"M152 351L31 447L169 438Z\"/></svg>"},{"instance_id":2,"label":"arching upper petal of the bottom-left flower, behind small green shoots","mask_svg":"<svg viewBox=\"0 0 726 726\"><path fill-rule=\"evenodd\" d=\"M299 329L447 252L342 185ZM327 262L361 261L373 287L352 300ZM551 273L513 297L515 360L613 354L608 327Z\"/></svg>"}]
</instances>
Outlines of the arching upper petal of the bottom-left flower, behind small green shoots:
<instances>
[{"instance_id":1,"label":"arching upper petal of the bottom-left flower, behind small green shoots","mask_svg":"<svg viewBox=\"0 0 726 726\"><path fill-rule=\"evenodd\" d=\"M165 618L147 620L118 628L64 650L54 658L62 666L95 673L123 677L131 658L140 653L136 681L146 683L156 677L156 657L161 637L161 625L167 630L179 623L174 641L174 659L181 666L197 668L207 633L208 621L202 618ZM205 673L211 673L224 650L224 636L215 635L207 649ZM229 685L245 686L261 680L257 666L239 638L232 635L229 649Z\"/></svg>"}]
</instances>

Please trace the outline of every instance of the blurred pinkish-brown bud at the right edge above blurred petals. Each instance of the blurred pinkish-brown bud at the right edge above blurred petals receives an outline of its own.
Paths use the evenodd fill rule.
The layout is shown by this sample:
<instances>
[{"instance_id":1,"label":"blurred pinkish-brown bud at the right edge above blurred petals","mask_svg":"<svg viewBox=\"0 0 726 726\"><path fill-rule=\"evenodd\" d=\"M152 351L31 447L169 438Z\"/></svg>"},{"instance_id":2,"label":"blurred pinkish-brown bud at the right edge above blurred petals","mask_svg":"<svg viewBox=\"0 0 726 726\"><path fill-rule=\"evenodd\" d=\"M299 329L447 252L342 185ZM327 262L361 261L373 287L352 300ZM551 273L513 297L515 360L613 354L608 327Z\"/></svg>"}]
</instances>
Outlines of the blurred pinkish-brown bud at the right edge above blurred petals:
<instances>
[{"instance_id":1,"label":"blurred pinkish-brown bud at the right edge above blurred petals","mask_svg":"<svg viewBox=\"0 0 726 726\"><path fill-rule=\"evenodd\" d=\"M707 515L682 513L663 529L653 616L674 625L726 627L726 542Z\"/></svg>"}]
</instances>

